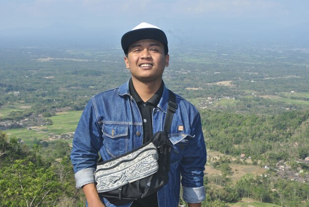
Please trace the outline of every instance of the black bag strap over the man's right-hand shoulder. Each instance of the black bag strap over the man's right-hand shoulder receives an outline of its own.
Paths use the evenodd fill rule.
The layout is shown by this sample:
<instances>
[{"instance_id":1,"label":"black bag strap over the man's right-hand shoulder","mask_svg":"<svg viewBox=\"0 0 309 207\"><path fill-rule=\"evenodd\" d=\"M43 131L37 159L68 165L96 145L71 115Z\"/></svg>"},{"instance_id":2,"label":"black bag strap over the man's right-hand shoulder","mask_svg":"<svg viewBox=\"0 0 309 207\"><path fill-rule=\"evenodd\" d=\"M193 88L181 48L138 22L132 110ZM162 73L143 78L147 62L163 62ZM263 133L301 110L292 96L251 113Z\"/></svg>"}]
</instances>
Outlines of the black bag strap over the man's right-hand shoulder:
<instances>
[{"instance_id":1,"label":"black bag strap over the man's right-hand shoulder","mask_svg":"<svg viewBox=\"0 0 309 207\"><path fill-rule=\"evenodd\" d=\"M173 116L174 113L176 112L176 109L177 109L176 95L171 90L168 90L168 107L163 129L163 132L167 137L171 130Z\"/></svg>"}]
</instances>

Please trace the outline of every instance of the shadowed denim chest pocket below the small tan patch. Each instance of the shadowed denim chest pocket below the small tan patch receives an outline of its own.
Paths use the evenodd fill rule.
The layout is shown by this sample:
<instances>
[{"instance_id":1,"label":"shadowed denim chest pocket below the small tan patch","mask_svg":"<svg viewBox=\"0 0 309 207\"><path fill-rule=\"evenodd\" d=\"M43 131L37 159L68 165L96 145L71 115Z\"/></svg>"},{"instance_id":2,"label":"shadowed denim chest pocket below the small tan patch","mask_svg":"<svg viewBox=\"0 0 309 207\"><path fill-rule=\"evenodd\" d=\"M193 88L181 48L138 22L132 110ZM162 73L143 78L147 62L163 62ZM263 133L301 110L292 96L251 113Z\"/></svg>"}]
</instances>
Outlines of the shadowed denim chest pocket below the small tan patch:
<instances>
[{"instance_id":1,"label":"shadowed denim chest pocket below the small tan patch","mask_svg":"<svg viewBox=\"0 0 309 207\"><path fill-rule=\"evenodd\" d=\"M173 144L173 149L171 150L171 157L170 157L170 162L172 165L174 163L178 163L179 161L181 161L184 152L188 147L188 143L191 139L193 139L193 136L189 134L177 134L177 135L171 135L169 139Z\"/></svg>"}]
</instances>

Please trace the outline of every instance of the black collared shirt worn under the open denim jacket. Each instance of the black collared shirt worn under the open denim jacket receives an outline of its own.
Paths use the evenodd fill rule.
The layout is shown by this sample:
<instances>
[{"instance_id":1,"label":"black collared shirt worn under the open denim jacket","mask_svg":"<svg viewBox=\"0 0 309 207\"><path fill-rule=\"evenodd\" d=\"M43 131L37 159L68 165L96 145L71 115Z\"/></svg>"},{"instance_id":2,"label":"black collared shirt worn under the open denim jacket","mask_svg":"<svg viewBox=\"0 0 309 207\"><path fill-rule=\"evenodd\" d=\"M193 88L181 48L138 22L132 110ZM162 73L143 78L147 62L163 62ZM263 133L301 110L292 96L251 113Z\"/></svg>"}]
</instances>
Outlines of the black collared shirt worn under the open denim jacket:
<instances>
[{"instance_id":1,"label":"black collared shirt worn under the open denim jacket","mask_svg":"<svg viewBox=\"0 0 309 207\"><path fill-rule=\"evenodd\" d=\"M143 120L143 143L149 141L153 136L153 111L154 108L157 107L162 94L163 94L163 81L161 83L160 88L156 91L156 93L146 102L142 100L139 94L136 92L134 85L132 83L132 79L129 82L130 94L133 99L137 103L138 109L142 115ZM131 207L158 207L157 194L145 198L134 201Z\"/></svg>"}]
</instances>

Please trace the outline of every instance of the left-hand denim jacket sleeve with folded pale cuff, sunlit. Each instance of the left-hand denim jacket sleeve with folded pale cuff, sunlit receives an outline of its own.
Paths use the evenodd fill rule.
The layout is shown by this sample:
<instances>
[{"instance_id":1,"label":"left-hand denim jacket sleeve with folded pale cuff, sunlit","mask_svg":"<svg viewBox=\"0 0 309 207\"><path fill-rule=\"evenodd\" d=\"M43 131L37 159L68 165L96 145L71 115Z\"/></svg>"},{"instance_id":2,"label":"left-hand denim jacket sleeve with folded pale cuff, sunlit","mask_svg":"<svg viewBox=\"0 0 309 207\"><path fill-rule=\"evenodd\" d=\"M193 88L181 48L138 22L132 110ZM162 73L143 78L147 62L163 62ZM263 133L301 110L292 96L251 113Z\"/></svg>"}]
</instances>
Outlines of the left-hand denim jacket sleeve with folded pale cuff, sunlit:
<instances>
[{"instance_id":1,"label":"left-hand denim jacket sleeve with folded pale cuff, sunlit","mask_svg":"<svg viewBox=\"0 0 309 207\"><path fill-rule=\"evenodd\" d=\"M94 172L102 146L102 131L98 124L93 98L86 105L73 139L71 162L75 172L76 187L94 182Z\"/></svg>"}]
</instances>

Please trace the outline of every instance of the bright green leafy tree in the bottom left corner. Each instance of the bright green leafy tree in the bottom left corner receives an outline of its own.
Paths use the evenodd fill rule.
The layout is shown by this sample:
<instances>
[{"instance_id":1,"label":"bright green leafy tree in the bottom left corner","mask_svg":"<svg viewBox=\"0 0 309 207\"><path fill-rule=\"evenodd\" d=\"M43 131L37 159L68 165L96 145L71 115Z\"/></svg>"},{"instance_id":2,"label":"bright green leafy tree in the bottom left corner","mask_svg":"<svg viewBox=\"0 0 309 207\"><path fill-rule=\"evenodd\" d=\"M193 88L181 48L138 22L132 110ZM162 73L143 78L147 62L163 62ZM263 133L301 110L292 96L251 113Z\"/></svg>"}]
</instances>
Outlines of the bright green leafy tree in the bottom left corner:
<instances>
[{"instance_id":1,"label":"bright green leafy tree in the bottom left corner","mask_svg":"<svg viewBox=\"0 0 309 207\"><path fill-rule=\"evenodd\" d=\"M52 168L37 167L27 160L16 160L0 171L0 206L53 206L63 188Z\"/></svg>"}]
</instances>

